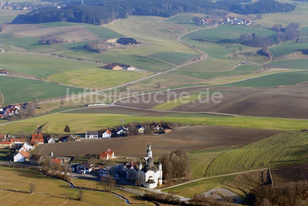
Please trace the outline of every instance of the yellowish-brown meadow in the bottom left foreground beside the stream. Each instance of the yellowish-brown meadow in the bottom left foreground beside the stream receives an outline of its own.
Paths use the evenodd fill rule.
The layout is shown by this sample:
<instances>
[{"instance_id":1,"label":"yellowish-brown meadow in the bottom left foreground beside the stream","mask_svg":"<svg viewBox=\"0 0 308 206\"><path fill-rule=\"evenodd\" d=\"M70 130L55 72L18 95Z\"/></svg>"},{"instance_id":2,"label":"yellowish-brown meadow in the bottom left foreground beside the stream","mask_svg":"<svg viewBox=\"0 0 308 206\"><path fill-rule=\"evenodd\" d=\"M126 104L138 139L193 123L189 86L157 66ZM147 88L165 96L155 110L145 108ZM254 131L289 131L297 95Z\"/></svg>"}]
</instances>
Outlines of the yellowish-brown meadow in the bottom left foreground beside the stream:
<instances>
[{"instance_id":1,"label":"yellowish-brown meadow in the bottom left foreground beside the stream","mask_svg":"<svg viewBox=\"0 0 308 206\"><path fill-rule=\"evenodd\" d=\"M54 205L55 203L63 205L126 205L122 199L116 197L115 195L94 191L83 191L84 202L76 201L78 192L77 189L70 188L68 183L47 177L37 171L10 167L0 167L0 171L2 174L0 188L2 189L28 191L29 184L34 183L34 192L45 193L30 195L28 193L5 191L6 194L10 193L14 197L19 197L17 199L18 202L15 202L15 204L18 205L28 204L29 202L31 202L32 205ZM4 191L0 192L3 193ZM3 201L7 201L6 199L7 198L5 198ZM8 198L8 200L10 200L10 198ZM14 201L16 201L16 199ZM8 202L8 204L12 202Z\"/></svg>"}]
</instances>

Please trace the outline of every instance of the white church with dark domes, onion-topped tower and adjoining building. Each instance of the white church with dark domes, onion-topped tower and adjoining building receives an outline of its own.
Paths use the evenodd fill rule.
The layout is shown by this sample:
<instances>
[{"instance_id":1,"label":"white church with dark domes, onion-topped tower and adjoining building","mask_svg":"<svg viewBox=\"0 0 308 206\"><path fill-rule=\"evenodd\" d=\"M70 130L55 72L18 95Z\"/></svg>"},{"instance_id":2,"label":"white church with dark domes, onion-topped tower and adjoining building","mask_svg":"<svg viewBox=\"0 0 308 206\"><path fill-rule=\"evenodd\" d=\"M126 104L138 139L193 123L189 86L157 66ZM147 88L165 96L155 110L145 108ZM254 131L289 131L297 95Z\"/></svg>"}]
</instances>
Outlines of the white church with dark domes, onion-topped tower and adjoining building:
<instances>
[{"instance_id":1,"label":"white church with dark domes, onion-topped tower and adjoining building","mask_svg":"<svg viewBox=\"0 0 308 206\"><path fill-rule=\"evenodd\" d=\"M139 168L137 170L134 163L127 164L126 176L127 179L141 179L141 184L147 188L154 188L157 185L163 183L163 171L161 169L161 163L158 164L158 169L154 165L154 159L152 158L151 145L148 145L147 156L144 158L147 164L142 167L142 163L139 163Z\"/></svg>"}]
</instances>

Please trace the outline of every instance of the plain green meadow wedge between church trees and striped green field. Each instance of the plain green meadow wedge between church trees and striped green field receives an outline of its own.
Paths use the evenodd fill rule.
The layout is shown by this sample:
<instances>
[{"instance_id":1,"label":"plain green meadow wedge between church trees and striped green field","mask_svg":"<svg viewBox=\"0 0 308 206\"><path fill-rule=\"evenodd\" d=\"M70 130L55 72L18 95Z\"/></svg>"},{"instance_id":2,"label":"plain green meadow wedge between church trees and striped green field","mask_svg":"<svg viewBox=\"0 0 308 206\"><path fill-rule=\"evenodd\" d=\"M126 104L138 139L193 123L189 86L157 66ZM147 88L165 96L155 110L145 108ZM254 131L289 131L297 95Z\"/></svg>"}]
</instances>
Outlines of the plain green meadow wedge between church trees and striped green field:
<instances>
[{"instance_id":1,"label":"plain green meadow wedge between church trees and striped green field","mask_svg":"<svg viewBox=\"0 0 308 206\"><path fill-rule=\"evenodd\" d=\"M228 149L227 149L228 150ZM204 177L205 170L218 155L227 150L195 150L187 153L190 164L191 179Z\"/></svg>"}]
</instances>

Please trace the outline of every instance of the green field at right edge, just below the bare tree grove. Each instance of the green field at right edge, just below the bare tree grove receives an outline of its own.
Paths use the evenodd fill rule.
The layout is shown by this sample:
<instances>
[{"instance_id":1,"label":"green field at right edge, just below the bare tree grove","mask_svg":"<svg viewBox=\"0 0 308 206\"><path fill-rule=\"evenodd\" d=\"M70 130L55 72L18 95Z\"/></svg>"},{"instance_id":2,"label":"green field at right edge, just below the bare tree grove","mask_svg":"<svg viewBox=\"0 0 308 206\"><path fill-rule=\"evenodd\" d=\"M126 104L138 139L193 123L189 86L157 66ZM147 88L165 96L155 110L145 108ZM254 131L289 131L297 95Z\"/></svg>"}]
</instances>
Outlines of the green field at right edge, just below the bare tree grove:
<instances>
[{"instance_id":1,"label":"green field at right edge, just below the bare tree grove","mask_svg":"<svg viewBox=\"0 0 308 206\"><path fill-rule=\"evenodd\" d=\"M270 52L273 54L274 58L279 56L287 55L297 51L303 51L308 48L308 42L294 42L287 41L285 43L280 44L277 47L271 47Z\"/></svg>"}]
</instances>

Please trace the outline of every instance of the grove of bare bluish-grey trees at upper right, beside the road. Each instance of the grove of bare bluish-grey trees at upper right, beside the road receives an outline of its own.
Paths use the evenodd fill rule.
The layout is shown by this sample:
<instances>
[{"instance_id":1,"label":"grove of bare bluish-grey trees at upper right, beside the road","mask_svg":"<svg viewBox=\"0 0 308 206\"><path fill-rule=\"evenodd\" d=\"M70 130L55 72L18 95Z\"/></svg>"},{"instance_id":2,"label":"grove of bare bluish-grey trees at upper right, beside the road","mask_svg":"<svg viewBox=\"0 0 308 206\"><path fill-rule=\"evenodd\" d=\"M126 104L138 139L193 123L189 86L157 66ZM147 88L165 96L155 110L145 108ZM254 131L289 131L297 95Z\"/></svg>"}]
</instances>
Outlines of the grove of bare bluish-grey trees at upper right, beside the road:
<instances>
[{"instance_id":1,"label":"grove of bare bluish-grey trees at upper right, beside the road","mask_svg":"<svg viewBox=\"0 0 308 206\"><path fill-rule=\"evenodd\" d=\"M280 32L277 35L277 43L283 41L294 40L301 36L299 31L300 25L297 22L291 22L286 28L282 27L282 24L274 24L273 31Z\"/></svg>"}]
</instances>

